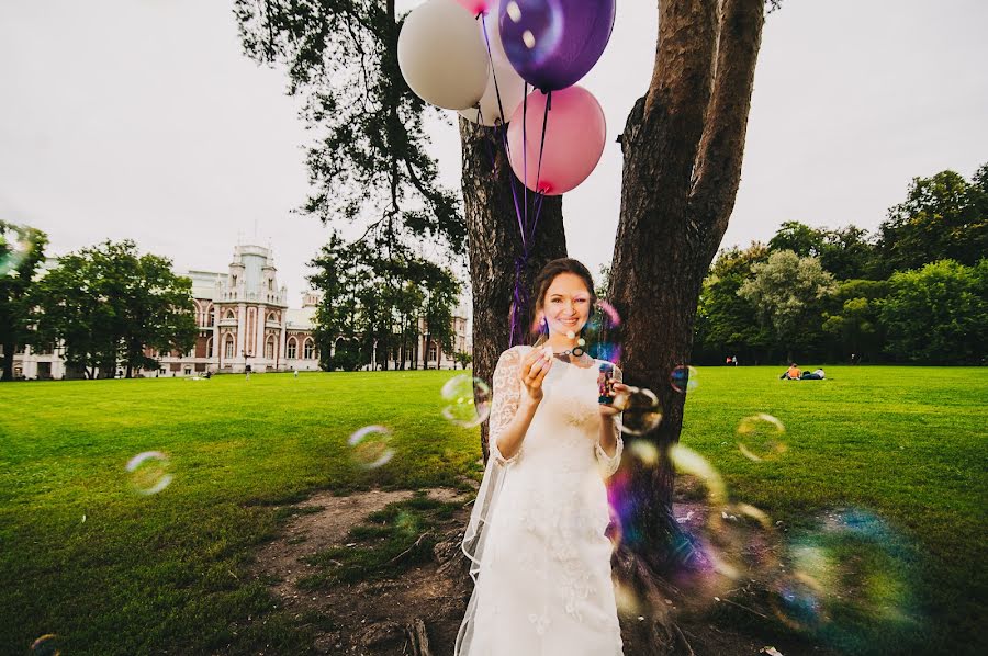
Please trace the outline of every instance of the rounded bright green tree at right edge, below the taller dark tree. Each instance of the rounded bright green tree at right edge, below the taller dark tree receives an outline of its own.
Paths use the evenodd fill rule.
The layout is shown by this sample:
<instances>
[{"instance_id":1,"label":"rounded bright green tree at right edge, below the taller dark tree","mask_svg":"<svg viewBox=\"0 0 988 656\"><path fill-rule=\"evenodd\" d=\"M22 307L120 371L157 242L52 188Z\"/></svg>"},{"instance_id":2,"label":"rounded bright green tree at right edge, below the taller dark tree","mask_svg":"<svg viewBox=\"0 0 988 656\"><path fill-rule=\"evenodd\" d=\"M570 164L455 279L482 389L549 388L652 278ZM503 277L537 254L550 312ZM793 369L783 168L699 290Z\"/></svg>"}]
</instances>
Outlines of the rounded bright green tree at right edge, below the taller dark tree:
<instances>
[{"instance_id":1,"label":"rounded bright green tree at right edge, below the taller dark tree","mask_svg":"<svg viewBox=\"0 0 988 656\"><path fill-rule=\"evenodd\" d=\"M988 259L941 260L889 279L878 313L900 362L980 364L988 340Z\"/></svg>"}]
</instances>

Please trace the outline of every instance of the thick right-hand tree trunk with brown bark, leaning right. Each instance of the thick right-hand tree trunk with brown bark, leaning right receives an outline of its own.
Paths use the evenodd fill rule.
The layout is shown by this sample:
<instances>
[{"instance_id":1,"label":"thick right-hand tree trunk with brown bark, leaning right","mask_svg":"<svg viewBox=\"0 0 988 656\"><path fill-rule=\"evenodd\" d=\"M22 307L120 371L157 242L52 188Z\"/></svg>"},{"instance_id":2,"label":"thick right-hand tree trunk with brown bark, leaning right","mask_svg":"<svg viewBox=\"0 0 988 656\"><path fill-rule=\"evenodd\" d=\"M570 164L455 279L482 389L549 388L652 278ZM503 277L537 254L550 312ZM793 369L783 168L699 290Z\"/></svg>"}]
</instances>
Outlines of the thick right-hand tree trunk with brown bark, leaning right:
<instances>
[{"instance_id":1,"label":"thick right-hand tree trunk with brown bark, leaning right","mask_svg":"<svg viewBox=\"0 0 988 656\"><path fill-rule=\"evenodd\" d=\"M689 361L697 301L733 208L761 43L764 0L660 1L659 44L648 93L621 136L621 214L608 296L620 313L625 380L662 403L659 428L642 438L660 453L680 439L685 396L669 384ZM672 517L667 457L647 466L626 457L619 578L645 599L654 575L688 559ZM651 593L650 593L651 592ZM664 603L659 606L664 607ZM652 609L660 620L664 608ZM636 654L665 653L673 634L659 623L632 629Z\"/></svg>"}]
</instances>

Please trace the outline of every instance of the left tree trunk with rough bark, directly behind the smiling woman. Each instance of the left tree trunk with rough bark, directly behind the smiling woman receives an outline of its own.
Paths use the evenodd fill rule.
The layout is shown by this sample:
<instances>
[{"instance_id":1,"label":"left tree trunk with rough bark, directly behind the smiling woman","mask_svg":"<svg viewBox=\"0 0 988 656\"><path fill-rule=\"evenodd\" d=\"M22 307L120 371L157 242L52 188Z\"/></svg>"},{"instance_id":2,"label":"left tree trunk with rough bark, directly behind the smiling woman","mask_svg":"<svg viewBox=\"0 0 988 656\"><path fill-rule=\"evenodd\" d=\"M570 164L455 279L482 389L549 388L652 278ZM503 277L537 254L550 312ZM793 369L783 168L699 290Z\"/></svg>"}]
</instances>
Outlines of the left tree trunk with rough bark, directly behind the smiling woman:
<instances>
[{"instance_id":1,"label":"left tree trunk with rough bark, directly behind the smiling woman","mask_svg":"<svg viewBox=\"0 0 988 656\"><path fill-rule=\"evenodd\" d=\"M510 186L514 173L497 135L499 133L494 128L460 118L463 206L473 286L473 375L487 383L494 376L497 359L509 346L515 261L523 253L521 231ZM520 182L517 185L520 206ZM529 192L529 200L531 196ZM547 262L566 257L561 196L548 196L542 203L529 253L521 272L521 284L527 290L531 290L532 280ZM530 305L535 305L534 298ZM523 323L527 335L530 319L525 318ZM487 422L482 423L484 461L489 453L487 431Z\"/></svg>"}]
</instances>

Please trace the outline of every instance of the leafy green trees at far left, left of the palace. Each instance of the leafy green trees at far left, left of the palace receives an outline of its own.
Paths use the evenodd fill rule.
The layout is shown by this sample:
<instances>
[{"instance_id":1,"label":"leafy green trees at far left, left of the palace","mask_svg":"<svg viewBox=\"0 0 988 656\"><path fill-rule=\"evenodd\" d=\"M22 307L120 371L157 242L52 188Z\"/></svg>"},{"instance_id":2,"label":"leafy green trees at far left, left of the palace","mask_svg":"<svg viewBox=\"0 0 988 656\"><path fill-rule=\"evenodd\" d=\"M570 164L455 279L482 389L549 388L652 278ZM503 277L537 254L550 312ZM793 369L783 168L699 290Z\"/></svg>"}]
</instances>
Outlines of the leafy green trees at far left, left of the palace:
<instances>
[{"instance_id":1,"label":"leafy green trees at far left, left of the palace","mask_svg":"<svg viewBox=\"0 0 988 656\"><path fill-rule=\"evenodd\" d=\"M126 377L157 369L151 352L188 352L195 343L192 281L176 275L171 260L137 250L131 240L103 241L46 265L47 236L0 223L0 255L8 235L29 231L24 257L0 276L3 380L25 346L56 347L66 366L87 378Z\"/></svg>"}]
</instances>

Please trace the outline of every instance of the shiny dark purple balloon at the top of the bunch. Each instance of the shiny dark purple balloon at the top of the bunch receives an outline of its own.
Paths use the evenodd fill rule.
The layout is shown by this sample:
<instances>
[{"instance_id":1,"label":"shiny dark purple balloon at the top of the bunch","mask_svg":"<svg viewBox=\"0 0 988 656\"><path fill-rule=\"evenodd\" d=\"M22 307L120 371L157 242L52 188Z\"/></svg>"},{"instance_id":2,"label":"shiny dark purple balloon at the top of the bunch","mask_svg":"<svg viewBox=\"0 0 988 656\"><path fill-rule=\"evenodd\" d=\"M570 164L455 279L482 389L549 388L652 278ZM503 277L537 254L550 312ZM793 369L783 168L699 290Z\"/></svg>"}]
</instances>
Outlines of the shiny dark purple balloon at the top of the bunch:
<instances>
[{"instance_id":1,"label":"shiny dark purple balloon at the top of the bunch","mask_svg":"<svg viewBox=\"0 0 988 656\"><path fill-rule=\"evenodd\" d=\"M544 92L585 76L607 46L615 0L501 0L501 42L518 75Z\"/></svg>"}]
</instances>

